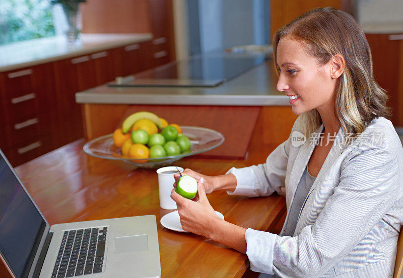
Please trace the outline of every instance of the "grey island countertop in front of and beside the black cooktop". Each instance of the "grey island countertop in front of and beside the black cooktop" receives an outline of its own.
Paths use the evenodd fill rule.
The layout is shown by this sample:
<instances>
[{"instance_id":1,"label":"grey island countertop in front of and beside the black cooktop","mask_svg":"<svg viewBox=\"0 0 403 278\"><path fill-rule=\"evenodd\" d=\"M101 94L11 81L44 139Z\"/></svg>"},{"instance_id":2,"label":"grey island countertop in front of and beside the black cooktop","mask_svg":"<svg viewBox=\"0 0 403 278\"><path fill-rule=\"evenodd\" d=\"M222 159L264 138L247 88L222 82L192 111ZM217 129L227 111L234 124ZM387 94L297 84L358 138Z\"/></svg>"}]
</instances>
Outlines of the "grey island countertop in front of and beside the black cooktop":
<instances>
[{"instance_id":1,"label":"grey island countertop in front of and beside the black cooktop","mask_svg":"<svg viewBox=\"0 0 403 278\"><path fill-rule=\"evenodd\" d=\"M108 87L78 92L80 104L288 106L276 89L273 61L268 60L217 87Z\"/></svg>"}]
</instances>

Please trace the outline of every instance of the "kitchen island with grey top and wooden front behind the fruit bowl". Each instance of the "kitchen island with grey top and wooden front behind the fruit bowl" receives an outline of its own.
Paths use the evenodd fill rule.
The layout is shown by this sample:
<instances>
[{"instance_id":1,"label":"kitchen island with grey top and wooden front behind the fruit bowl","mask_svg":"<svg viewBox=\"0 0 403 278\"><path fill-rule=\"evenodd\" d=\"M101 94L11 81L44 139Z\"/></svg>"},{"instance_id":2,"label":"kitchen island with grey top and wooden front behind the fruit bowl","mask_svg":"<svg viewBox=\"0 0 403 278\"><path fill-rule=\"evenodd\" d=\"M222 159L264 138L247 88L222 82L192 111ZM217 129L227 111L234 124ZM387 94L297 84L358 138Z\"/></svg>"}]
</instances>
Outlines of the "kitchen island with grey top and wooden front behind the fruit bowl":
<instances>
[{"instance_id":1,"label":"kitchen island with grey top and wooden front behind the fruit bowl","mask_svg":"<svg viewBox=\"0 0 403 278\"><path fill-rule=\"evenodd\" d=\"M135 78L145 75L139 73ZM206 155L245 158L253 130L265 144L278 146L289 137L297 118L288 97L277 91L276 82L273 61L268 60L216 87L105 84L78 92L76 102L82 104L87 140L112 133L132 113L150 111L169 123L221 132L225 142ZM263 126L257 127L257 122ZM242 137L238 131L242 131Z\"/></svg>"}]
</instances>

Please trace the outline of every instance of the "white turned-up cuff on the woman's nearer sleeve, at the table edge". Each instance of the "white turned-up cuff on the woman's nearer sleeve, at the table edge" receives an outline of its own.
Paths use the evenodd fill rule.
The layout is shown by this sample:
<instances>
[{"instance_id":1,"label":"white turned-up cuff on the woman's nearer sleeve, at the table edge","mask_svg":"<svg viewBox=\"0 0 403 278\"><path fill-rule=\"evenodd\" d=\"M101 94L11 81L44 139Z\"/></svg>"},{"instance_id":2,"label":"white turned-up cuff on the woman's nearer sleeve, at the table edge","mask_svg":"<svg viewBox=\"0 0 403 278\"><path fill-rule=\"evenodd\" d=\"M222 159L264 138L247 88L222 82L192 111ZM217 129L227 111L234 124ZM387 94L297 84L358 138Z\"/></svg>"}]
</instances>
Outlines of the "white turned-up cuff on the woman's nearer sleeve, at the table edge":
<instances>
[{"instance_id":1,"label":"white turned-up cuff on the woman's nearer sleeve, at the table edge","mask_svg":"<svg viewBox=\"0 0 403 278\"><path fill-rule=\"evenodd\" d=\"M256 272L274 274L273 253L276 235L248 228L245 239L250 269Z\"/></svg>"}]
</instances>

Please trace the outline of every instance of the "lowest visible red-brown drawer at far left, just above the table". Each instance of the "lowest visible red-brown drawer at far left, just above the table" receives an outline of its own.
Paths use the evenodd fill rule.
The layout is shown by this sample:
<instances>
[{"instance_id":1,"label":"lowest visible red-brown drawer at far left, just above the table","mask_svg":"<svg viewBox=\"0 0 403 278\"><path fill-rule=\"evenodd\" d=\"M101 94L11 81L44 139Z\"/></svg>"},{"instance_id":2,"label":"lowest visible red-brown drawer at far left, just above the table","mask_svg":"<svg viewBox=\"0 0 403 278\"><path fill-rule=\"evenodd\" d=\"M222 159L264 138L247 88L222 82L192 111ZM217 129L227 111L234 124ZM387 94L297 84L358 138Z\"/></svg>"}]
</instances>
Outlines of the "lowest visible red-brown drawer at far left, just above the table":
<instances>
[{"instance_id":1,"label":"lowest visible red-brown drawer at far left, just above the table","mask_svg":"<svg viewBox=\"0 0 403 278\"><path fill-rule=\"evenodd\" d=\"M51 150L50 136L41 135L36 138L27 138L25 143L17 144L5 150L4 153L11 165L16 167Z\"/></svg>"}]
</instances>

